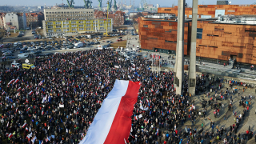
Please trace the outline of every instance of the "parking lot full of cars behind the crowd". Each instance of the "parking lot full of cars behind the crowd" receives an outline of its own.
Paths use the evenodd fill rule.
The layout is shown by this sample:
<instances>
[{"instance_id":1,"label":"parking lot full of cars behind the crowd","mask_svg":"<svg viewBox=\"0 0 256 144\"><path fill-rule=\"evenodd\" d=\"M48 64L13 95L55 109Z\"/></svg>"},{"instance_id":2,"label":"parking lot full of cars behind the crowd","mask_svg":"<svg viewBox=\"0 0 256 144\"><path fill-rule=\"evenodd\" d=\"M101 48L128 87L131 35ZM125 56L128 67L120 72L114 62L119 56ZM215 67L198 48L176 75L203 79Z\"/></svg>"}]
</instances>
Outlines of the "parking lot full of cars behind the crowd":
<instances>
[{"instance_id":1,"label":"parking lot full of cars behind the crowd","mask_svg":"<svg viewBox=\"0 0 256 144\"><path fill-rule=\"evenodd\" d=\"M135 37L138 38L138 36L133 36L133 35L123 35L122 38L119 37L106 37L103 38L102 40L97 39L97 42L99 44L94 44L90 45L92 40L87 39L87 43L85 41L78 41L78 38L69 38L66 39L66 41L63 42L63 40L54 40L54 39L43 39L43 40L36 40L36 41L29 41L29 42L16 42L17 46L14 47L14 43L11 43L9 48L2 48L2 61L5 62L12 62L14 60L22 60L24 61L26 58L18 58L18 55L20 54L27 54L30 55L30 57L27 58L40 58L43 57L47 54L55 54L55 53L64 53L64 52L73 52L73 51L78 51L78 50L92 50L92 49L97 49L98 45L105 46L106 47L111 47L113 46L118 46L118 43L122 43L119 39L122 40L127 40L128 38ZM105 40L106 39L106 40ZM95 40L95 39L94 39ZM111 41L112 43L110 43ZM74 48L75 43L82 42L84 43L82 47L79 48ZM94 41L96 42L96 41ZM127 41L128 42L128 41ZM92 42L93 43L93 42ZM109 45L109 46L107 46ZM70 46L70 48L67 48ZM125 47L125 46L124 46Z\"/></svg>"}]
</instances>

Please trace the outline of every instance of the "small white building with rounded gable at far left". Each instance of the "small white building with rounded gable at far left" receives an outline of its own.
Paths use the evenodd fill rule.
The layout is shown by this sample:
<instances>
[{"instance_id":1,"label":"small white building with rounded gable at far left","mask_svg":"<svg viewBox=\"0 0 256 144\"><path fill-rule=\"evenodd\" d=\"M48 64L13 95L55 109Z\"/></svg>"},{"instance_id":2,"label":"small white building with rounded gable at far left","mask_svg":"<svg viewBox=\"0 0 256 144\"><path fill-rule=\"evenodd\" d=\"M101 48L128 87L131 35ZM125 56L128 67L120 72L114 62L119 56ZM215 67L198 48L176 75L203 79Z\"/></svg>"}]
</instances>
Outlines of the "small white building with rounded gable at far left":
<instances>
[{"instance_id":1,"label":"small white building with rounded gable at far left","mask_svg":"<svg viewBox=\"0 0 256 144\"><path fill-rule=\"evenodd\" d=\"M19 30L18 26L18 15L14 13L6 13L5 17L3 17L3 24L6 29L8 27L16 27Z\"/></svg>"}]
</instances>

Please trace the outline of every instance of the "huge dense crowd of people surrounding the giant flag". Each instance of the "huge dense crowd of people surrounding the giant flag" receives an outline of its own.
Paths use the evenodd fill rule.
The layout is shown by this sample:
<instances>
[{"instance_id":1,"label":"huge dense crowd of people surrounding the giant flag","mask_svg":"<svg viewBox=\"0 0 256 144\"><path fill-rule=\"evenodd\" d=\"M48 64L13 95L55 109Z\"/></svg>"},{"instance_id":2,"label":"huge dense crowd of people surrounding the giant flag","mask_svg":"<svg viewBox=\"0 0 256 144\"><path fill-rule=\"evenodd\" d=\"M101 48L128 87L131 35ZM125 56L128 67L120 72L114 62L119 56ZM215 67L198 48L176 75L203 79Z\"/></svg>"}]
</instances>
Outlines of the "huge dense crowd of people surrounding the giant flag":
<instances>
[{"instance_id":1,"label":"huge dense crowd of people surrounding the giant flag","mask_svg":"<svg viewBox=\"0 0 256 144\"><path fill-rule=\"evenodd\" d=\"M37 58L34 65L29 70L1 66L0 143L80 142L115 79L142 82L129 143L205 143L226 134L178 129L186 121L194 124L199 113L186 94L187 82L185 93L175 94L173 72L153 73L146 58L131 63L112 50L86 50ZM206 76L198 77L197 91L205 89ZM218 103L214 109L218 114Z\"/></svg>"}]
</instances>

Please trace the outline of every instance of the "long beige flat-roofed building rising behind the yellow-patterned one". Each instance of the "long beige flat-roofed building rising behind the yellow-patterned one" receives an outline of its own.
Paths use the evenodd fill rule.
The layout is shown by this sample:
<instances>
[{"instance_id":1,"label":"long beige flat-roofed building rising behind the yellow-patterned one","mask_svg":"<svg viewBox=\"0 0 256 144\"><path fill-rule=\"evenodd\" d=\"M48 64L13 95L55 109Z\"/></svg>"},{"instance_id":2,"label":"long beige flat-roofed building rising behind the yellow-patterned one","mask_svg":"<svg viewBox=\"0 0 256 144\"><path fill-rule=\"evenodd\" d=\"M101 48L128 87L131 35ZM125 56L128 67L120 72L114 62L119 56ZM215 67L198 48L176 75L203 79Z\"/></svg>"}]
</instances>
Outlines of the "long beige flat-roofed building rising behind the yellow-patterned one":
<instances>
[{"instance_id":1,"label":"long beige flat-roofed building rising behind the yellow-patterned one","mask_svg":"<svg viewBox=\"0 0 256 144\"><path fill-rule=\"evenodd\" d=\"M46 21L94 19L94 9L44 9Z\"/></svg>"}]
</instances>

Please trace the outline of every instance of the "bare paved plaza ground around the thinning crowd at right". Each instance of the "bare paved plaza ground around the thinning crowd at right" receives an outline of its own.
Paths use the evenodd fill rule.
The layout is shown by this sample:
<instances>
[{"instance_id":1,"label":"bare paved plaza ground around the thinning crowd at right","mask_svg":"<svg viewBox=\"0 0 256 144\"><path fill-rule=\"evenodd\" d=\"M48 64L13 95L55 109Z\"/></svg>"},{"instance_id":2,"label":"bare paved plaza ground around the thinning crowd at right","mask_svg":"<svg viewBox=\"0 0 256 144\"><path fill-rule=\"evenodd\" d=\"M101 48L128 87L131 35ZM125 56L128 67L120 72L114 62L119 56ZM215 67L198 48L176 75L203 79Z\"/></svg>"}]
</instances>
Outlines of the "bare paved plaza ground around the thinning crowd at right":
<instances>
[{"instance_id":1,"label":"bare paved plaza ground around the thinning crowd at right","mask_svg":"<svg viewBox=\"0 0 256 144\"><path fill-rule=\"evenodd\" d=\"M138 38L137 37L132 37L127 41L127 46L129 48L134 48L138 46ZM130 43L128 43L130 42ZM153 52L147 52L145 50L142 50L142 55L143 58L150 58L149 54L153 54ZM164 67L168 68L174 68L174 63L175 63L175 55L173 54L164 54L160 53L161 58L166 60L166 65ZM168 58L170 57L171 58ZM152 60L152 58L150 58ZM189 60L185 59L184 65L189 65ZM219 65L218 63L210 63L210 62L202 62L198 63L197 65L203 65L203 66L209 66L214 69L219 69L219 70L226 70L226 71L232 71L234 73L239 73L241 70L236 70L232 69L232 66L223 66ZM155 68L154 70L158 70L158 68ZM254 71L242 69L243 71L250 72L251 74L254 74ZM200 76L200 75L198 75ZM209 82L210 80L206 80L206 82ZM217 94L220 94L222 92L223 95L224 91L228 88L229 94L226 96L225 100L212 100L211 102L218 102L224 104L224 107L220 107L220 112L218 118L214 118L214 108L211 109L211 106L209 105L208 101L210 98L214 98L215 90L217 90ZM203 134L206 132L206 130L211 131L212 128L210 126L210 122L214 122L214 133L216 133L216 126L221 128L226 128L226 132L230 131L230 126L233 126L233 124L236 121L236 118L240 116L240 114L243 113L243 110L246 110L246 107L239 106L239 101L241 100L241 96L246 96L246 101L249 103L249 111L245 114L244 119L240 123L240 126L237 130L237 135L238 134L246 134L246 130L248 130L250 126L250 130L255 134L256 133L256 127L254 126L256 124L256 103L255 103L255 88L247 88L243 90L245 86L232 86L230 87L230 84L222 82L222 87L221 89L218 89L218 85L214 85L214 88L211 90L206 90L205 93L198 94L196 96L193 96L191 99L195 103L196 110L198 109L199 112L202 113L202 102L205 100L207 102L206 104L206 115L205 117L198 116L194 122L194 126L192 126L192 122L186 121L183 126L179 126L178 130L185 130L185 127L191 127L192 129L197 129L201 130L202 129L202 123L203 123ZM233 94L233 90L235 90L235 93ZM210 94L210 96L207 96L207 93ZM239 96L238 96L239 93ZM250 101L249 99L249 94L252 95L252 99ZM232 103L232 108L229 110L229 105L230 105L230 97L233 99ZM245 102L246 102L245 101ZM234 136L234 132L233 135ZM222 138L225 138L225 134L223 134ZM186 139L184 139L183 143L186 143ZM256 143L254 138L251 138L250 140L246 141L246 143Z\"/></svg>"}]
</instances>

